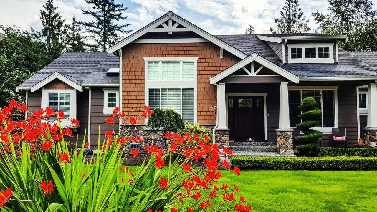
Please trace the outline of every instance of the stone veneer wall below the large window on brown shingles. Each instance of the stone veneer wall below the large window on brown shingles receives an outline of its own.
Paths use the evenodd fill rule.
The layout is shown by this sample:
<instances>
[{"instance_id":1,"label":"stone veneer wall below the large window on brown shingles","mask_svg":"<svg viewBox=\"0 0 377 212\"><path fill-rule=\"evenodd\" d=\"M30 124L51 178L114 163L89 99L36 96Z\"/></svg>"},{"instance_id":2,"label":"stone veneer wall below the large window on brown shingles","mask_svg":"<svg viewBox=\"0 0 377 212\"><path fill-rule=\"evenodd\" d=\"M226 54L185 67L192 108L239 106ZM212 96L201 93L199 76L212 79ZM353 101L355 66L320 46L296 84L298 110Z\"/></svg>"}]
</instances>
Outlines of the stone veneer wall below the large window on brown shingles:
<instances>
[{"instance_id":1,"label":"stone veneer wall below the large window on brown shingles","mask_svg":"<svg viewBox=\"0 0 377 212\"><path fill-rule=\"evenodd\" d=\"M205 128L213 130L215 127L215 124L201 124L201 126L204 126ZM176 132L176 131L166 131L166 132ZM216 131L217 132L217 131ZM164 149L165 146L169 147L170 140L167 140L165 145L165 138L164 138L164 131L163 130L151 130L147 128L147 124L127 124L124 126L123 132L120 133L120 137L127 137L131 138L132 136L140 136L141 138L141 144L140 144L140 152L145 153L144 150L147 145L151 146L157 145L159 148ZM217 139L216 139L217 142ZM126 145L126 149L128 150L130 148L130 143Z\"/></svg>"}]
</instances>

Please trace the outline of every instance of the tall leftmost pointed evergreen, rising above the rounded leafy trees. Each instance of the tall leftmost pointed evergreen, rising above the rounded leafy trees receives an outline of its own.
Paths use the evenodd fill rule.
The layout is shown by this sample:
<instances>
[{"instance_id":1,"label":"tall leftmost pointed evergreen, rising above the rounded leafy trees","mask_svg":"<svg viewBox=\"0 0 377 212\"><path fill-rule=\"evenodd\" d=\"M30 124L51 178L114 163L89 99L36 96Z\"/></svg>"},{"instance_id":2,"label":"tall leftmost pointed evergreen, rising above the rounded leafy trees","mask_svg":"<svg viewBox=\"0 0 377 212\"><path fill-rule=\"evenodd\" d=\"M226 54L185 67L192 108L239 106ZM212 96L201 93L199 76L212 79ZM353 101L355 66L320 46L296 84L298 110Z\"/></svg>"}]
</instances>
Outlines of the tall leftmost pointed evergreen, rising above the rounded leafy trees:
<instances>
[{"instance_id":1,"label":"tall leftmost pointed evergreen, rising above the rounded leafy trees","mask_svg":"<svg viewBox=\"0 0 377 212\"><path fill-rule=\"evenodd\" d=\"M46 43L46 51L51 57L50 62L63 54L65 50L63 37L66 34L65 19L61 18L60 12L56 11L58 7L54 7L53 3L54 0L46 0L43 10L40 10L42 30L38 32L32 28L35 37Z\"/></svg>"}]
</instances>

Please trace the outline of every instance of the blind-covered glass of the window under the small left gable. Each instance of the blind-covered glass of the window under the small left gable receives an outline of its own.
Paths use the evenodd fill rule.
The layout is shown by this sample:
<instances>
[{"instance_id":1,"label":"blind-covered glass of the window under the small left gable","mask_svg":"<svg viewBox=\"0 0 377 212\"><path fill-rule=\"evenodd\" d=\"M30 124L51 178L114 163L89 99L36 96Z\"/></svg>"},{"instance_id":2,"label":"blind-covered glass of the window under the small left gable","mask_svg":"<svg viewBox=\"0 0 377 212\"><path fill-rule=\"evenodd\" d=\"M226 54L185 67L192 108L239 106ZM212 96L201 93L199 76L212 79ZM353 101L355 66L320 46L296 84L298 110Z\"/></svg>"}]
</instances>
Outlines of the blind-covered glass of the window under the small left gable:
<instances>
[{"instance_id":1,"label":"blind-covered glass of the window under the small left gable","mask_svg":"<svg viewBox=\"0 0 377 212\"><path fill-rule=\"evenodd\" d=\"M65 117L69 117L70 93L49 93L48 107L54 111L63 111ZM56 120L56 117L48 118L49 121Z\"/></svg>"}]
</instances>

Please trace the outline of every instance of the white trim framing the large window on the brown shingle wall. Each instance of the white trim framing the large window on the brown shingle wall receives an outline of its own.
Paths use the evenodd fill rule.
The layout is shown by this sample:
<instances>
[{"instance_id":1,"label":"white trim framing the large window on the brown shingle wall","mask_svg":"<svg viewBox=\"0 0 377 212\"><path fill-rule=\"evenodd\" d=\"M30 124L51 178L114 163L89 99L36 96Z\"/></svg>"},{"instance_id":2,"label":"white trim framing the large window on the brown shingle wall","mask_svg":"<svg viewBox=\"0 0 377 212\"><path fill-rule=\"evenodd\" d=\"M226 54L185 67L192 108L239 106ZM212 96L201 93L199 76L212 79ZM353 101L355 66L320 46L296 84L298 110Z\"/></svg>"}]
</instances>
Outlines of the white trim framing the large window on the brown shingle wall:
<instances>
[{"instance_id":1,"label":"white trim framing the large window on the brown shingle wall","mask_svg":"<svg viewBox=\"0 0 377 212\"><path fill-rule=\"evenodd\" d=\"M180 88L181 89L181 104L182 104L182 88L194 89L194 123L198 122L198 58L199 57L144 57L145 60L145 83L144 83L144 100L145 105L148 105L148 89L160 89L160 108L161 108L161 89L163 88ZM194 61L194 80L161 80L161 68L159 80L148 79L148 61ZM160 62L161 66L161 62ZM182 79L182 62L181 62L181 79ZM162 83L166 82L166 83ZM181 107L182 110L182 107ZM181 113L182 116L182 113ZM148 120L145 120L147 123Z\"/></svg>"}]
</instances>

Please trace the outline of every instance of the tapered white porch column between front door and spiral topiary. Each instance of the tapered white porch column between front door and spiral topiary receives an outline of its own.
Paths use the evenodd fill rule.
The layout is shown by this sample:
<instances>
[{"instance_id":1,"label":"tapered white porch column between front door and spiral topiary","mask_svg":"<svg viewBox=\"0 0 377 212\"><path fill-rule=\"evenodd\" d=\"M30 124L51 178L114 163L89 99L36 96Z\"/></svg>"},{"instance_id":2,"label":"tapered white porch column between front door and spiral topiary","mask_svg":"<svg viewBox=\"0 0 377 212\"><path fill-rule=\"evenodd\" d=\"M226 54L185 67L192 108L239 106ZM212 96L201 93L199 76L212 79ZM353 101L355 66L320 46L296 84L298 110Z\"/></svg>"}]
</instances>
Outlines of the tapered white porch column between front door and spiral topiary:
<instances>
[{"instance_id":1,"label":"tapered white porch column between front door and spiral topiary","mask_svg":"<svg viewBox=\"0 0 377 212\"><path fill-rule=\"evenodd\" d=\"M291 129L289 124L288 83L280 83L279 131Z\"/></svg>"}]
</instances>

